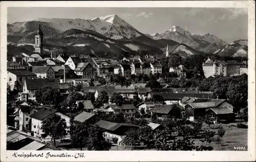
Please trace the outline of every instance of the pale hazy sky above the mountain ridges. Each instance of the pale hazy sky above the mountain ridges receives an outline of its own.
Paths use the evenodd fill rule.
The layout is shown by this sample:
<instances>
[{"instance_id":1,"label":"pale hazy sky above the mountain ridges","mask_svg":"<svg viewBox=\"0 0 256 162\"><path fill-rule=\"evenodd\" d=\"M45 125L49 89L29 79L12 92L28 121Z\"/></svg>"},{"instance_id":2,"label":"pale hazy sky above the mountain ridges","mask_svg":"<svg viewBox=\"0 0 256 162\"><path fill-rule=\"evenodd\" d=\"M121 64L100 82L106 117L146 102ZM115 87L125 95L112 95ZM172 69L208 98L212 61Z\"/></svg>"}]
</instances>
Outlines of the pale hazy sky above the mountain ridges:
<instances>
[{"instance_id":1,"label":"pale hazy sky above the mountain ridges","mask_svg":"<svg viewBox=\"0 0 256 162\"><path fill-rule=\"evenodd\" d=\"M246 8L75 8L10 7L8 23L36 18L83 18L116 14L145 34L162 33L179 26L192 34L214 34L232 42L248 38Z\"/></svg>"}]
</instances>

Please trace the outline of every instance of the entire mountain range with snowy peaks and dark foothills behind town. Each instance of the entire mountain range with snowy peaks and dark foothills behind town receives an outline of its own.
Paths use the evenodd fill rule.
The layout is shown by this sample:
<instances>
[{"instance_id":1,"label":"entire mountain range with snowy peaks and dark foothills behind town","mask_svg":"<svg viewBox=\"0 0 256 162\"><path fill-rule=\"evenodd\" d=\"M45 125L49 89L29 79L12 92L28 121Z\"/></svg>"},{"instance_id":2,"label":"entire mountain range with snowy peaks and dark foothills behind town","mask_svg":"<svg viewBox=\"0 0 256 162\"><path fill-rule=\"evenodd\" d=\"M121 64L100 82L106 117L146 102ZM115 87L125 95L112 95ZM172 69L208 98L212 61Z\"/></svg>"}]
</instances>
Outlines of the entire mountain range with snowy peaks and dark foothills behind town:
<instances>
[{"instance_id":1,"label":"entire mountain range with snowy peaks and dark foothills behind town","mask_svg":"<svg viewBox=\"0 0 256 162\"><path fill-rule=\"evenodd\" d=\"M7 41L34 43L40 23L45 44L80 47L87 53L135 53L138 50L156 54L178 53L182 57L212 53L221 56L247 56L248 44L230 44L212 34L191 34L178 26L163 33L143 34L117 15L93 19L38 18L7 25ZM243 40L246 42L246 40Z\"/></svg>"}]
</instances>

